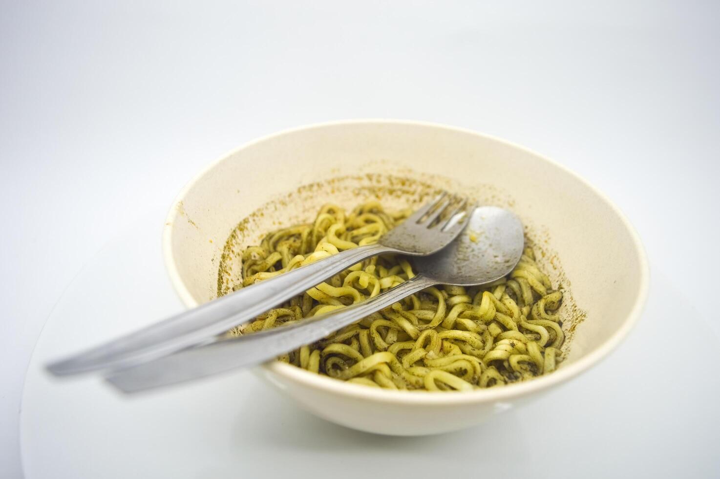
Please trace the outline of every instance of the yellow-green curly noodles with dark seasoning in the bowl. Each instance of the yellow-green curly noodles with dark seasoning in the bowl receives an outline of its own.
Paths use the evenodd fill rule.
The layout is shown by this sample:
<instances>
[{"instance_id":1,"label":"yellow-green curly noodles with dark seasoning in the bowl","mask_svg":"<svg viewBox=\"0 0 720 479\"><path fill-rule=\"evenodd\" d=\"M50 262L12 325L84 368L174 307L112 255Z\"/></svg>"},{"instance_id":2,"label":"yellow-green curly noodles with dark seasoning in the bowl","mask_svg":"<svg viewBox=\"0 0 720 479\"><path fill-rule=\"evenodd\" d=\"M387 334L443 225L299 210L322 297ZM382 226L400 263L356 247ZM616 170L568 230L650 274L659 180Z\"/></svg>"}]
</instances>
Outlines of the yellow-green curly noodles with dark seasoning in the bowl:
<instances>
[{"instance_id":1,"label":"yellow-green curly noodles with dark seasoning in the bowl","mask_svg":"<svg viewBox=\"0 0 720 479\"><path fill-rule=\"evenodd\" d=\"M243 287L339 251L371 244L411 212L366 202L325 205L312 223L269 233L243 251ZM252 333L359 303L415 276L412 261L366 259L229 333ZM235 288L235 289L236 289ZM477 288L430 287L279 359L373 388L472 390L552 372L564 342L562 291L526 247L507 277Z\"/></svg>"}]
</instances>

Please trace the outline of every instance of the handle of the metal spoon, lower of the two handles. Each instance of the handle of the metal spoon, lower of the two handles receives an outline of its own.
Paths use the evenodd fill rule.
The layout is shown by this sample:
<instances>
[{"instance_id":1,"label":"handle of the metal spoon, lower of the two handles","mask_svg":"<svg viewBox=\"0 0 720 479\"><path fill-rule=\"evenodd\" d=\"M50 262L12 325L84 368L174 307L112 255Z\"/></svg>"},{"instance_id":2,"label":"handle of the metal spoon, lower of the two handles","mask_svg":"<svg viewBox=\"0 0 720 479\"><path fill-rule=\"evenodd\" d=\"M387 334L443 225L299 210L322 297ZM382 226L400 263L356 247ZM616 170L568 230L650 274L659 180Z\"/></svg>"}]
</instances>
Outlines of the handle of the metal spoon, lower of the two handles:
<instances>
[{"instance_id":1,"label":"handle of the metal spoon, lower of the two handles","mask_svg":"<svg viewBox=\"0 0 720 479\"><path fill-rule=\"evenodd\" d=\"M343 326L397 303L403 297L436 284L436 281L418 274L391 290L341 310L314 316L289 326L184 349L160 359L111 372L106 379L124 393L138 393L238 367L254 366L304 344L318 341Z\"/></svg>"}]
</instances>

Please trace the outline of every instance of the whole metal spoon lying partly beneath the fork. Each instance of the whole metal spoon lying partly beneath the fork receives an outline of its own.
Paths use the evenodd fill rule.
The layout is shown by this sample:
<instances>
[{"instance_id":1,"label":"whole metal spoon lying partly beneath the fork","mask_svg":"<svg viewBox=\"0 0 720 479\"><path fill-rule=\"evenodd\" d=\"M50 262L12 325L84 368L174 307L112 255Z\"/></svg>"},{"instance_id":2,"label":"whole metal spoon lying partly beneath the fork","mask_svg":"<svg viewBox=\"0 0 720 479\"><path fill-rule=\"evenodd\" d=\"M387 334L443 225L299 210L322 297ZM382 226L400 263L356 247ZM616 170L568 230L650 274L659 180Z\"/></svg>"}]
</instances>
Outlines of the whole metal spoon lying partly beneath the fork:
<instances>
[{"instance_id":1,"label":"whole metal spoon lying partly beneath the fork","mask_svg":"<svg viewBox=\"0 0 720 479\"><path fill-rule=\"evenodd\" d=\"M125 393L252 366L318 341L403 297L435 285L476 286L508 274L523 254L523 225L508 210L479 207L463 233L431 256L413 259L418 274L362 303L289 326L223 339L111 372L107 380Z\"/></svg>"}]
</instances>

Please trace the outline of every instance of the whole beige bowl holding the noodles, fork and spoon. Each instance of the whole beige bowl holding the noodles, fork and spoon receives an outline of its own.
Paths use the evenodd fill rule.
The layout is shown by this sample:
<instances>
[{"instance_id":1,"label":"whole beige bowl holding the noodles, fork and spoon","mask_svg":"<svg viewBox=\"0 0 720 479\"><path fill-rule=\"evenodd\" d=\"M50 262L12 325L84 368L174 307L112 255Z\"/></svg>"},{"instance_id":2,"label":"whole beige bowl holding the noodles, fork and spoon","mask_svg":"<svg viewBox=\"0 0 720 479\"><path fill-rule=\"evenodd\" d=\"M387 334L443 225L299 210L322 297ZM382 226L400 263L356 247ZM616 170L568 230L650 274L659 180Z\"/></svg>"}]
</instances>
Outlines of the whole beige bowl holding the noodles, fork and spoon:
<instances>
[{"instance_id":1,"label":"whole beige bowl holding the noodles, fork and spoon","mask_svg":"<svg viewBox=\"0 0 720 479\"><path fill-rule=\"evenodd\" d=\"M391 207L416 205L436 188L510 207L523 220L553 284L569 290L562 307L569 352L566 348L559 369L470 393L379 390L280 362L258 368L262 377L307 411L344 426L380 434L436 434L478 424L539 397L588 370L629 333L645 302L648 267L642 244L620 210L547 158L442 125L333 122L238 148L179 194L165 228L167 267L184 303L194 307L233 281L239 267L233 250L271 228L310 220L328 201L352 207L381 197ZM233 233L243 218L248 219ZM227 270L218 281L221 261Z\"/></svg>"}]
</instances>

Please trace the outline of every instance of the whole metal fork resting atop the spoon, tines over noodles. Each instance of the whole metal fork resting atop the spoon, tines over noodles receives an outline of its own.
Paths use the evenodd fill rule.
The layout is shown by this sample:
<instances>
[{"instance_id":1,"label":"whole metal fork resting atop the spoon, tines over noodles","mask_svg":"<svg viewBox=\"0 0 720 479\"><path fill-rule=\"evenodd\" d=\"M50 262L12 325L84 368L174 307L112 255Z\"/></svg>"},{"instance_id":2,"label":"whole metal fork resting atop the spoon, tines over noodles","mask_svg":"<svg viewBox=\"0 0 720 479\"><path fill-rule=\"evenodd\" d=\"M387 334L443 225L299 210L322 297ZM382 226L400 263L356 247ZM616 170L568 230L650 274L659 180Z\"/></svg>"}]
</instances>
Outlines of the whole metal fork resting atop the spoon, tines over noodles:
<instances>
[{"instance_id":1,"label":"whole metal fork resting atop the spoon, tines over noodles","mask_svg":"<svg viewBox=\"0 0 720 479\"><path fill-rule=\"evenodd\" d=\"M375 244L333 256L244 287L197 308L48 365L55 375L122 369L212 341L328 277L379 254L427 256L447 246L462 231L467 202L443 193L385 233Z\"/></svg>"}]
</instances>

